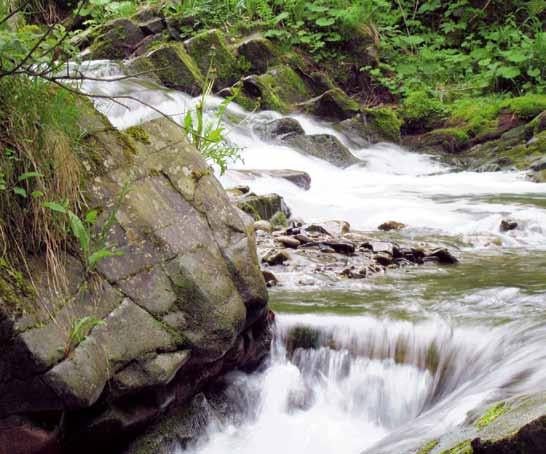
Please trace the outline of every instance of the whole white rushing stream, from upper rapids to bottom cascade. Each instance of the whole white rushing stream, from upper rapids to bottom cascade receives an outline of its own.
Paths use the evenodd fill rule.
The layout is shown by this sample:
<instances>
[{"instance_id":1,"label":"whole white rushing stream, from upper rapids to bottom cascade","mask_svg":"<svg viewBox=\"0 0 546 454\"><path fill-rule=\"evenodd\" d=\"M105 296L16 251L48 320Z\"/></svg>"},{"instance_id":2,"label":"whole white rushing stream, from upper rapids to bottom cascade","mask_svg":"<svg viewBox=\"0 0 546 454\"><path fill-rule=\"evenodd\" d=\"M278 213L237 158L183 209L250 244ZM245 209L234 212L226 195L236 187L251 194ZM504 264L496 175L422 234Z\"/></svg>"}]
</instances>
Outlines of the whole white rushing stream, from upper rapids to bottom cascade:
<instances>
[{"instance_id":1,"label":"whole white rushing stream, from upper rapids to bottom cascade","mask_svg":"<svg viewBox=\"0 0 546 454\"><path fill-rule=\"evenodd\" d=\"M91 65L94 74L121 73L107 62ZM84 88L137 97L175 119L197 102L143 80ZM120 101L127 107L97 102L119 128L157 116ZM272 291L271 358L258 372L229 377L238 411L211 424L192 454L403 452L492 401L546 389L546 184L517 172L458 172L392 144L358 148L331 126L295 115L308 134L334 134L366 163L342 170L253 134L277 113L233 106L228 117L244 159L234 168L305 170L312 185L304 191L227 172L225 186L277 192L297 217L343 219L371 235L397 220L408 228L382 237L442 241L461 263L389 272L352 288ZM506 218L518 228L500 232ZM301 327L316 348L287 349Z\"/></svg>"}]
</instances>

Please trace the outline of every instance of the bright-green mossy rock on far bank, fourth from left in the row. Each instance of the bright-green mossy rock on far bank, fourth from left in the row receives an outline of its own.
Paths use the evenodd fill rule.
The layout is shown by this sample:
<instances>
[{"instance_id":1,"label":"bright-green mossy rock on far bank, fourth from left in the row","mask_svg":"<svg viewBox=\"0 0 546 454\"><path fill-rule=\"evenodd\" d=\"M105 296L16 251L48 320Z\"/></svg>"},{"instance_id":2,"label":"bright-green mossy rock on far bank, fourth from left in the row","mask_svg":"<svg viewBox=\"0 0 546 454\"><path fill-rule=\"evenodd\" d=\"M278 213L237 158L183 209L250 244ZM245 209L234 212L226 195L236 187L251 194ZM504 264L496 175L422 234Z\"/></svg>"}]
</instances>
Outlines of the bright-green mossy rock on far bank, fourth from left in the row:
<instances>
[{"instance_id":1,"label":"bright-green mossy rock on far bank, fourth from left in the row","mask_svg":"<svg viewBox=\"0 0 546 454\"><path fill-rule=\"evenodd\" d=\"M241 93L261 109L283 113L294 110L295 104L313 96L303 79L287 65L275 66L261 76L244 78Z\"/></svg>"}]
</instances>

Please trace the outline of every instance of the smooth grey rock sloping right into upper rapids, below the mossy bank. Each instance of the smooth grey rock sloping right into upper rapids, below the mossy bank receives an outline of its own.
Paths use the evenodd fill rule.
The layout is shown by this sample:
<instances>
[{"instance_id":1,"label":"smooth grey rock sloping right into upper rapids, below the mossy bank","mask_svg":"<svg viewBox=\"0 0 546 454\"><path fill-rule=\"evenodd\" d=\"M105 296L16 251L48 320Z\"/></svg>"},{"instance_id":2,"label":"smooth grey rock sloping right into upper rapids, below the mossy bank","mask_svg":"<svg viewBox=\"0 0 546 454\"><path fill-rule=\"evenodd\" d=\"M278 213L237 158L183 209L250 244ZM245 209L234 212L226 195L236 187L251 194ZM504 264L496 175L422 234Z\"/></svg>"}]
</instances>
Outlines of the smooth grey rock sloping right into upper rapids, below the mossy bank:
<instances>
[{"instance_id":1,"label":"smooth grey rock sloping right into upper rapids, below the mossy bank","mask_svg":"<svg viewBox=\"0 0 546 454\"><path fill-rule=\"evenodd\" d=\"M336 167L349 167L362 163L339 139L329 134L296 135L283 140L302 153L314 156Z\"/></svg>"}]
</instances>

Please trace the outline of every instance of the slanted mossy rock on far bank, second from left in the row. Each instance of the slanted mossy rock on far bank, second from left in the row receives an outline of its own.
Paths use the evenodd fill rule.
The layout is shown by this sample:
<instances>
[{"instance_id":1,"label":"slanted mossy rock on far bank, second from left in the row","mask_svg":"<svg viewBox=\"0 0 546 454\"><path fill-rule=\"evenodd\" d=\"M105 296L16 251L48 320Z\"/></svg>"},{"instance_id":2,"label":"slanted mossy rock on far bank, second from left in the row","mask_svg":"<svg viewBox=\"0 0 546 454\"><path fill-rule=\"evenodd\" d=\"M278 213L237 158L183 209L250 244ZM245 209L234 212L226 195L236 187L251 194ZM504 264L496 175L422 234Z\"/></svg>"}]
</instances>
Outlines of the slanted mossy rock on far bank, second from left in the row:
<instances>
[{"instance_id":1,"label":"slanted mossy rock on far bank, second from left in the row","mask_svg":"<svg viewBox=\"0 0 546 454\"><path fill-rule=\"evenodd\" d=\"M145 57L163 85L197 95L203 87L203 74L184 46L167 44L148 53Z\"/></svg>"}]
</instances>

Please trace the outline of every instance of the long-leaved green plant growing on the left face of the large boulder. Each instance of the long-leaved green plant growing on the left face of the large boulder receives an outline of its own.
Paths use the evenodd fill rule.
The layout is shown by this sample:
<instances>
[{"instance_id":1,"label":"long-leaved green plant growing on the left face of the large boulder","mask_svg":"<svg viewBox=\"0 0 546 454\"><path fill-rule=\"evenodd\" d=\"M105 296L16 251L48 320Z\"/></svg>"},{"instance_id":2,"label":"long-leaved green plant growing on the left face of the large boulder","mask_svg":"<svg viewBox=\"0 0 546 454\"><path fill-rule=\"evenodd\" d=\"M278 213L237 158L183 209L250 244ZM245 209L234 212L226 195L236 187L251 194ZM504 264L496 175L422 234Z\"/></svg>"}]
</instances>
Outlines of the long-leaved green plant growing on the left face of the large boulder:
<instances>
[{"instance_id":1,"label":"long-leaved green plant growing on the left face of the large boulder","mask_svg":"<svg viewBox=\"0 0 546 454\"><path fill-rule=\"evenodd\" d=\"M87 272L93 271L101 260L123 255L121 251L107 246L107 237L108 232L116 222L116 213L128 192L128 186L125 185L120 191L114 207L110 210L105 222L100 226L96 234L93 234L93 226L97 221L97 210L87 212L85 217L81 219L65 205L56 202L44 202L44 206L49 210L68 217L70 231L74 238L78 240Z\"/></svg>"}]
</instances>

